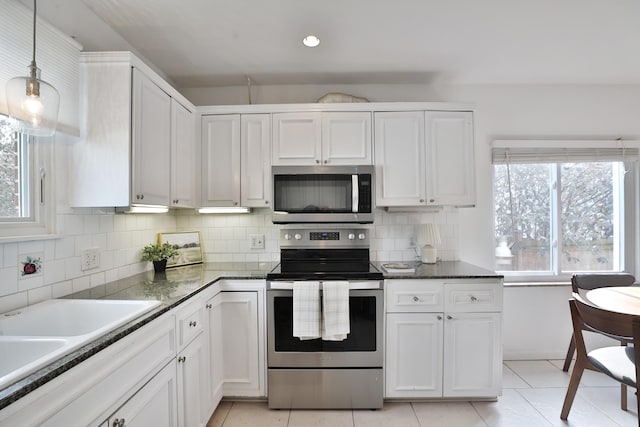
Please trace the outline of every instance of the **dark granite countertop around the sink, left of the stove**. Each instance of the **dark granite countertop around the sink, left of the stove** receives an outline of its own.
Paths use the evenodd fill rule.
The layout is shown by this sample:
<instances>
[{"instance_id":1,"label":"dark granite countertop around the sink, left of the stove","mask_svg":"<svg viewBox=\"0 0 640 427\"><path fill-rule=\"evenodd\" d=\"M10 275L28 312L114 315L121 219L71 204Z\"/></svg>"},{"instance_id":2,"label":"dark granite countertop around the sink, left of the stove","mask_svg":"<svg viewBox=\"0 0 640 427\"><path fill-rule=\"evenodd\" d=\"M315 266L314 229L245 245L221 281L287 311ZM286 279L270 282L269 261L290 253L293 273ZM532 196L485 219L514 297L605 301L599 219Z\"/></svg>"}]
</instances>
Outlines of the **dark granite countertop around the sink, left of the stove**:
<instances>
[{"instance_id":1,"label":"dark granite countertop around the sink, left of the stove","mask_svg":"<svg viewBox=\"0 0 640 427\"><path fill-rule=\"evenodd\" d=\"M264 279L276 263L206 263L136 274L115 282L66 295L75 299L157 300L157 308L52 361L0 390L0 410L53 380L100 350L124 338L153 319L213 285L218 279Z\"/></svg>"}]
</instances>

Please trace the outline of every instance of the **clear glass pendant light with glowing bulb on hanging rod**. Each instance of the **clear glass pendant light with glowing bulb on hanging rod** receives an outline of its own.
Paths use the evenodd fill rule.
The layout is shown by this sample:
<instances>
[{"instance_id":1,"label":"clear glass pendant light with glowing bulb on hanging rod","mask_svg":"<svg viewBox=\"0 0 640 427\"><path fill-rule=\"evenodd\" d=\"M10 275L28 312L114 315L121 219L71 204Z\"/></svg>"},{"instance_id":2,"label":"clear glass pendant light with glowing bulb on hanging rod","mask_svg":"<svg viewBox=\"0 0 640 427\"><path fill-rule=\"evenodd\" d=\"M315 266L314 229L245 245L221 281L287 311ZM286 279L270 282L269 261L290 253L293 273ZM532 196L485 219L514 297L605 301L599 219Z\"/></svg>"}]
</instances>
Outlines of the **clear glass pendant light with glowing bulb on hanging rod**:
<instances>
[{"instance_id":1,"label":"clear glass pendant light with glowing bulb on hanging rod","mask_svg":"<svg viewBox=\"0 0 640 427\"><path fill-rule=\"evenodd\" d=\"M29 75L7 82L9 116L16 119L17 131L31 136L52 136L56 131L60 95L56 88L40 80L36 65L36 0L33 0L33 57Z\"/></svg>"}]
</instances>

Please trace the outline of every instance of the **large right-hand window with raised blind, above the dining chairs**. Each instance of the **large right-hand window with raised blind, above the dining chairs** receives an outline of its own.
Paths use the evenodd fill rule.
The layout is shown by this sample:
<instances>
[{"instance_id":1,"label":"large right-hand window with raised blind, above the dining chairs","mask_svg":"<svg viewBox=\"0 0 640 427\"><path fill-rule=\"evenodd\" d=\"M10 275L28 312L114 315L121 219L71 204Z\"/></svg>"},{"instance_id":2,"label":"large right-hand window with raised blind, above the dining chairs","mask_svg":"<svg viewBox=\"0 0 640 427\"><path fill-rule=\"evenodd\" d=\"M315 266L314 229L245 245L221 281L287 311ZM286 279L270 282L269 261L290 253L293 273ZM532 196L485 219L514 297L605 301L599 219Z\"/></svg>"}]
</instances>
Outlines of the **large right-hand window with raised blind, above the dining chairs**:
<instances>
[{"instance_id":1,"label":"large right-hand window with raised blind, above the dining chairs","mask_svg":"<svg viewBox=\"0 0 640 427\"><path fill-rule=\"evenodd\" d=\"M496 270L517 280L629 270L636 156L628 148L494 147Z\"/></svg>"}]
</instances>

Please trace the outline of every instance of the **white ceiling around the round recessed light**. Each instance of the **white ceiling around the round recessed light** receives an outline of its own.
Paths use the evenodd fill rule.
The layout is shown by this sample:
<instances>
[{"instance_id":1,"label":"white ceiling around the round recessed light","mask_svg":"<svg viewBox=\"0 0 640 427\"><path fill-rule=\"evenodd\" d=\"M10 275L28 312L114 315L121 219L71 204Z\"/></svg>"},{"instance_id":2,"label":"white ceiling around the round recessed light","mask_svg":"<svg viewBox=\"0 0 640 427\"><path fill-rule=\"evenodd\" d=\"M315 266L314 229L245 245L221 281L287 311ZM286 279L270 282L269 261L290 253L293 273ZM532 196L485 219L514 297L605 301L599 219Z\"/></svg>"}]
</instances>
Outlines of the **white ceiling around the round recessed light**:
<instances>
[{"instance_id":1,"label":"white ceiling around the round recessed light","mask_svg":"<svg viewBox=\"0 0 640 427\"><path fill-rule=\"evenodd\" d=\"M47 0L38 15L178 87L640 84L638 0Z\"/></svg>"}]
</instances>

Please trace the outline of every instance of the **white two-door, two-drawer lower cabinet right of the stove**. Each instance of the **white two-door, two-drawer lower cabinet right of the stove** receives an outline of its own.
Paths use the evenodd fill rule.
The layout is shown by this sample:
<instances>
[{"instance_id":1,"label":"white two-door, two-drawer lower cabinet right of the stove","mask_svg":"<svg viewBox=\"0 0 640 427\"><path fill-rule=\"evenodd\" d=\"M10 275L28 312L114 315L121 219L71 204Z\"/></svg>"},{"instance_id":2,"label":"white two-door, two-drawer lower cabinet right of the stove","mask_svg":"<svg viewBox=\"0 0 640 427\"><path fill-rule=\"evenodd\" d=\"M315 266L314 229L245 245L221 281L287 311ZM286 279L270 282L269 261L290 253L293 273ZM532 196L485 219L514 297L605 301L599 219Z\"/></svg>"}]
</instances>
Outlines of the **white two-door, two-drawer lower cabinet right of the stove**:
<instances>
[{"instance_id":1,"label":"white two-door, two-drawer lower cabinet right of the stove","mask_svg":"<svg viewBox=\"0 0 640 427\"><path fill-rule=\"evenodd\" d=\"M385 289L386 397L501 394L501 280L388 280Z\"/></svg>"}]
</instances>

